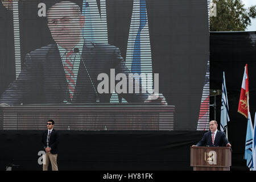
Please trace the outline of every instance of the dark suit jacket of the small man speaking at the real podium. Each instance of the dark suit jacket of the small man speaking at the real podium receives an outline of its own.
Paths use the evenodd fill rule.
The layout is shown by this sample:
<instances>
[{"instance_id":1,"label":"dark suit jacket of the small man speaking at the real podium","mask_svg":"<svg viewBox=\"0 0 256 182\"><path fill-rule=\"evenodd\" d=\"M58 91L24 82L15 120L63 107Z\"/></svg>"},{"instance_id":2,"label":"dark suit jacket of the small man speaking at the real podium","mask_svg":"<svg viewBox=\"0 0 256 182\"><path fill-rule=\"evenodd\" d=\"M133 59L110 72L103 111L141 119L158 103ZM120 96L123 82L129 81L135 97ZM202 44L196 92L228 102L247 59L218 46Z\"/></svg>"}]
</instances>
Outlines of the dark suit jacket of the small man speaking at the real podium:
<instances>
[{"instance_id":1,"label":"dark suit jacket of the small man speaking at the real podium","mask_svg":"<svg viewBox=\"0 0 256 182\"><path fill-rule=\"evenodd\" d=\"M229 141L226 138L226 135L223 131L217 130L215 139L214 139L214 145L212 144L212 131L208 131L204 134L204 137L196 144L196 146L226 146Z\"/></svg>"}]
</instances>

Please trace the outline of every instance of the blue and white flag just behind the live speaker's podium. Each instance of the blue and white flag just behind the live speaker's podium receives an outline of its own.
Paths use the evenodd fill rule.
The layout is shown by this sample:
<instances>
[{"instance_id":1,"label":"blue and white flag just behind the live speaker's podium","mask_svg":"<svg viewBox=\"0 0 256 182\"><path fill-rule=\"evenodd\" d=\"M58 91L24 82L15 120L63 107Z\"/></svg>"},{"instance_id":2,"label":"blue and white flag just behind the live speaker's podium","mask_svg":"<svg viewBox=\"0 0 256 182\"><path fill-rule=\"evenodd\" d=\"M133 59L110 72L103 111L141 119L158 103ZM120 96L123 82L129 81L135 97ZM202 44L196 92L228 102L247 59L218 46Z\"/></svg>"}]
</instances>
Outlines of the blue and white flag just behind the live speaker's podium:
<instances>
[{"instance_id":1,"label":"blue and white flag just behind the live speaker's podium","mask_svg":"<svg viewBox=\"0 0 256 182\"><path fill-rule=\"evenodd\" d=\"M226 81L225 72L223 72L222 78L222 96L221 96L221 131L226 133L226 138L228 138L228 122L229 122L229 104L228 104L228 94L226 93Z\"/></svg>"}]
</instances>

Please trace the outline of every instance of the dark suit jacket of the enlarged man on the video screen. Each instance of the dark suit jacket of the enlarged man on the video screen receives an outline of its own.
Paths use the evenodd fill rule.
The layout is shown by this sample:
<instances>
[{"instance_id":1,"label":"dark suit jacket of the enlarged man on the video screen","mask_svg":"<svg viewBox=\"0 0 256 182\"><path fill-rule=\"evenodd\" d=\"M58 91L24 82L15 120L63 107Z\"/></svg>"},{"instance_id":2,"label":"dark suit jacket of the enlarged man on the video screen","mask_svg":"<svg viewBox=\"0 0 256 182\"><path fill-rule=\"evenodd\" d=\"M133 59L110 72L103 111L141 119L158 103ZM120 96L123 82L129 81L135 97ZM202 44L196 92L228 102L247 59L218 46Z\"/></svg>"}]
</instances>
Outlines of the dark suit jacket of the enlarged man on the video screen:
<instances>
[{"instance_id":1,"label":"dark suit jacket of the enlarged man on the video screen","mask_svg":"<svg viewBox=\"0 0 256 182\"><path fill-rule=\"evenodd\" d=\"M130 73L117 47L85 41L83 50L80 53L96 87L96 91L98 83L101 82L101 80L97 81L97 76L100 73L108 74L109 82L111 68L115 69L115 74L125 73L128 77ZM51 44L27 53L22 72L2 94L0 103L9 105L21 103L61 104L64 100L69 99L67 86L68 83L59 49L57 44ZM100 102L110 102L111 94L111 91L98 94ZM144 102L148 94L121 94L121 96L128 102ZM80 61L72 102L96 102L96 93L82 61Z\"/></svg>"}]
</instances>

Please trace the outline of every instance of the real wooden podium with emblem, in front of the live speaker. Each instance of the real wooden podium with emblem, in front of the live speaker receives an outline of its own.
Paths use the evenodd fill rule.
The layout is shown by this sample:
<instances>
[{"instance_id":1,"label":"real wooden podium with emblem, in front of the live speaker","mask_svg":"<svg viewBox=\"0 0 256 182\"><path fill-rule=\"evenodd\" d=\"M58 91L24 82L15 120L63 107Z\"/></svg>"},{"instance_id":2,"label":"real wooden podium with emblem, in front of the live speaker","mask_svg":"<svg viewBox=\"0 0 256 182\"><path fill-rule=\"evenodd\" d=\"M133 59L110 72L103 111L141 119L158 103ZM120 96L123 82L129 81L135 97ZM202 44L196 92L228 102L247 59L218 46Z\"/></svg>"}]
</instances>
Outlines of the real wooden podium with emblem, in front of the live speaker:
<instances>
[{"instance_id":1,"label":"real wooden podium with emblem, in front of the live speaker","mask_svg":"<svg viewBox=\"0 0 256 182\"><path fill-rule=\"evenodd\" d=\"M194 171L229 171L230 147L191 147L191 167Z\"/></svg>"}]
</instances>

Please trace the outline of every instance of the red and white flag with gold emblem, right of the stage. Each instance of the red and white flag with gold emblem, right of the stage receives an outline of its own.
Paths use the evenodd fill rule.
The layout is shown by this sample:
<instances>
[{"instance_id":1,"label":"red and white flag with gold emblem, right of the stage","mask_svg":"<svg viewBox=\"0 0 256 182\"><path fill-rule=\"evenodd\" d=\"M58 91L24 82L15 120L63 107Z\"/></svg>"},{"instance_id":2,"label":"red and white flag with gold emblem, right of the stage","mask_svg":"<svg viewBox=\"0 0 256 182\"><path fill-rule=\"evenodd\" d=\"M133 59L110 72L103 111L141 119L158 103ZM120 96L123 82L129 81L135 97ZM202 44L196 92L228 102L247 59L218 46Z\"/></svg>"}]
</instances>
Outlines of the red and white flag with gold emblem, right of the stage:
<instances>
[{"instance_id":1,"label":"red and white flag with gold emblem, right of the stage","mask_svg":"<svg viewBox=\"0 0 256 182\"><path fill-rule=\"evenodd\" d=\"M247 102L247 97L249 100L249 82L248 82L248 72L247 72L247 64L245 65L245 72L243 73L243 81L241 86L241 93L238 105L238 113L241 113L246 118L248 118L248 112L250 111L247 106L249 106Z\"/></svg>"}]
</instances>

